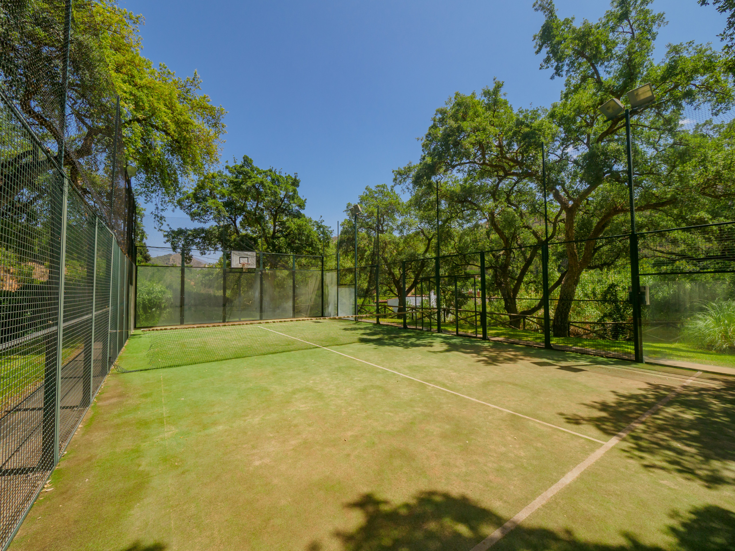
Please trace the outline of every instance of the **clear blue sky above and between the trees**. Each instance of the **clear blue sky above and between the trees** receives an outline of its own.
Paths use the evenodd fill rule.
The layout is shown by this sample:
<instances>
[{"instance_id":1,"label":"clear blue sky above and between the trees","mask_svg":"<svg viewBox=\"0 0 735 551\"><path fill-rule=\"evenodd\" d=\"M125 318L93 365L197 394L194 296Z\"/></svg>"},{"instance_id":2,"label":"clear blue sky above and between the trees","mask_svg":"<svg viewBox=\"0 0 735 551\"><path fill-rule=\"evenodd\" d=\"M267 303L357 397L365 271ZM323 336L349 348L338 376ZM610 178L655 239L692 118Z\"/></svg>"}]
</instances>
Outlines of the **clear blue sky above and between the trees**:
<instances>
[{"instance_id":1,"label":"clear blue sky above and between the trees","mask_svg":"<svg viewBox=\"0 0 735 551\"><path fill-rule=\"evenodd\" d=\"M306 214L336 230L348 201L417 161L416 138L454 92L506 83L516 106L549 105L562 81L539 71L526 1L120 0L146 18L143 54L195 69L227 111L223 161L247 154L301 177ZM596 20L606 1L564 0L560 17ZM720 47L725 17L696 0L657 0L669 42ZM185 226L171 213L172 226ZM146 226L149 226L146 224ZM163 245L149 227L149 245Z\"/></svg>"}]
</instances>

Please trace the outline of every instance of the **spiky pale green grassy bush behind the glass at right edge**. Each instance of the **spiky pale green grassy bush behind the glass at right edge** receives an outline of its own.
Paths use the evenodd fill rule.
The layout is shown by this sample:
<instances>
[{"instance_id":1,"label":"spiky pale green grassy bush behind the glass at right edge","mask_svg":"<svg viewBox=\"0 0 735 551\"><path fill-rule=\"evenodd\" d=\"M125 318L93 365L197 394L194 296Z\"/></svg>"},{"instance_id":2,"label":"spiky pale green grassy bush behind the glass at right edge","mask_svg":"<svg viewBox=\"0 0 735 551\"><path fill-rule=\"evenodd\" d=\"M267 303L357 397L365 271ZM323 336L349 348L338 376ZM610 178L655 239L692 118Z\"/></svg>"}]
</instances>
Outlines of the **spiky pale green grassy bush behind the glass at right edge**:
<instances>
[{"instance_id":1,"label":"spiky pale green grassy bush behind the glass at right edge","mask_svg":"<svg viewBox=\"0 0 735 551\"><path fill-rule=\"evenodd\" d=\"M735 300L710 302L684 323L684 338L716 352L735 348Z\"/></svg>"}]
</instances>

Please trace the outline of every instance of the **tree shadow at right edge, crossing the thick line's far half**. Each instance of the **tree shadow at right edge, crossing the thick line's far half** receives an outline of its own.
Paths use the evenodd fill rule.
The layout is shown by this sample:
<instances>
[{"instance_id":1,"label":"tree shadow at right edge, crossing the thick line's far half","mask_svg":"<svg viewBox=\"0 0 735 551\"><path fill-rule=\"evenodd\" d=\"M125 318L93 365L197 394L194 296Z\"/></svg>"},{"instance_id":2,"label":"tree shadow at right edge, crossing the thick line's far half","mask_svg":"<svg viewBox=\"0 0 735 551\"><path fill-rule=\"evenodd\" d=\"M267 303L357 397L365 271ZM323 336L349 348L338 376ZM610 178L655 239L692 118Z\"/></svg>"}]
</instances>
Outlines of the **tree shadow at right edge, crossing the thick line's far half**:
<instances>
[{"instance_id":1,"label":"tree shadow at right edge, crossing the thick line's far half","mask_svg":"<svg viewBox=\"0 0 735 551\"><path fill-rule=\"evenodd\" d=\"M561 415L568 422L595 425L613 435L622 428L621 419L642 414L669 392L670 386L649 384L644 392L614 392L613 400L585 404L599 414ZM646 424L645 431L629 434L621 446L639 464L675 472L709 488L735 484L731 467L735 461L735 385L688 386Z\"/></svg>"}]
</instances>

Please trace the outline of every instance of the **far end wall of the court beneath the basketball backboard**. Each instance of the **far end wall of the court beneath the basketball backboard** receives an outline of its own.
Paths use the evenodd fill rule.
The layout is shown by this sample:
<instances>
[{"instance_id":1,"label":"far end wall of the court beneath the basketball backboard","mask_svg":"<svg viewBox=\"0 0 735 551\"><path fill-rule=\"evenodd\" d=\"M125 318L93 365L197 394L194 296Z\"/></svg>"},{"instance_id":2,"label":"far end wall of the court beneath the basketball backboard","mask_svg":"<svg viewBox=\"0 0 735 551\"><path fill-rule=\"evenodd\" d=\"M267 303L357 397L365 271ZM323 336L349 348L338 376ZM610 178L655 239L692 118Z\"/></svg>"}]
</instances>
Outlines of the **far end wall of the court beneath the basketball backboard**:
<instances>
[{"instance_id":1,"label":"far end wall of the court beneath the basketball backboard","mask_svg":"<svg viewBox=\"0 0 735 551\"><path fill-rule=\"evenodd\" d=\"M233 267L229 252L146 251L150 258L138 255L135 267L137 327L329 314L331 280L326 275L323 290L321 256L257 253L254 267Z\"/></svg>"}]
</instances>

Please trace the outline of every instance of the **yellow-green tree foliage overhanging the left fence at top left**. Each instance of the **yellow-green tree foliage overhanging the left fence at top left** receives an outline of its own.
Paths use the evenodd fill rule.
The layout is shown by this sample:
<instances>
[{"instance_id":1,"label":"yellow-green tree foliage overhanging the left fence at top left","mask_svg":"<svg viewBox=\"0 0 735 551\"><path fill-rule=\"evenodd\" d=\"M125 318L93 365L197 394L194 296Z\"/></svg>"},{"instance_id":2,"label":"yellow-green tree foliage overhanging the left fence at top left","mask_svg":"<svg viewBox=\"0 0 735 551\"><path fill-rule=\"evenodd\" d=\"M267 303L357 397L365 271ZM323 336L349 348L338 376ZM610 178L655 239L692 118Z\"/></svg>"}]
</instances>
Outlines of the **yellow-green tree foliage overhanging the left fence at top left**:
<instances>
[{"instance_id":1,"label":"yellow-green tree foliage overhanging the left fence at top left","mask_svg":"<svg viewBox=\"0 0 735 551\"><path fill-rule=\"evenodd\" d=\"M136 192L146 201L161 205L173 201L187 179L205 173L218 161L224 110L201 93L196 71L182 78L165 65L154 68L141 55L141 15L110 0L79 0L71 5L67 104L73 123L67 132L76 134L66 136L65 168L77 184L90 185L107 196L115 96L119 96L126 149L118 150L118 159L137 165ZM4 89L42 139L57 144L62 140L58 98L63 6L34 1L0 7ZM80 179L75 159L87 169L86 181Z\"/></svg>"}]
</instances>

